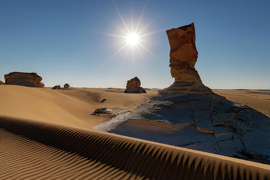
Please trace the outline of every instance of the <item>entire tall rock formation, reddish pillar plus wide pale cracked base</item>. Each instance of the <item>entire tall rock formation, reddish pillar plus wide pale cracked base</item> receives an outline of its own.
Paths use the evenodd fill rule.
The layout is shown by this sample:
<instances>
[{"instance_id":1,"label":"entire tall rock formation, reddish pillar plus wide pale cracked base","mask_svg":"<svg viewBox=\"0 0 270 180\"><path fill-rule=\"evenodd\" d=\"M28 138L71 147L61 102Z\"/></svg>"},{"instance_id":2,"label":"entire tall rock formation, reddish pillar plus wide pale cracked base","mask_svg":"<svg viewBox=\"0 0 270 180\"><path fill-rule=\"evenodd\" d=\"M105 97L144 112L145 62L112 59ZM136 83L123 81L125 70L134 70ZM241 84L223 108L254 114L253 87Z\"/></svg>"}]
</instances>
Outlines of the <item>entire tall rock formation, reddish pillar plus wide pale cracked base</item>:
<instances>
[{"instance_id":1,"label":"entire tall rock formation, reddish pillar plus wide pale cracked base","mask_svg":"<svg viewBox=\"0 0 270 180\"><path fill-rule=\"evenodd\" d=\"M270 164L270 118L202 84L193 23L167 35L175 82L124 119L94 129Z\"/></svg>"}]
</instances>

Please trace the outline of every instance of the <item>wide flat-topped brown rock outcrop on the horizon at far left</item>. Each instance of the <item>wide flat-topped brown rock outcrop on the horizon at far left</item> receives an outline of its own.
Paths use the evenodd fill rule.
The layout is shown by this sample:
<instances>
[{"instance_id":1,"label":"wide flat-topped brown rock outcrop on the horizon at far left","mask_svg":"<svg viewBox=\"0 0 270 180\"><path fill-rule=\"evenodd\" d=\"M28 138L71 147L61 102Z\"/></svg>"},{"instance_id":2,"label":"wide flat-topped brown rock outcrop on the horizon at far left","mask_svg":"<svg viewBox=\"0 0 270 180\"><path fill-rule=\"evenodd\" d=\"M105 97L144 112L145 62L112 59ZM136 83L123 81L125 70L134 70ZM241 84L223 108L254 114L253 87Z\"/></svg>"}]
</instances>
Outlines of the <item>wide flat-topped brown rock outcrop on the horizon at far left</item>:
<instances>
[{"instance_id":1,"label":"wide flat-topped brown rock outcrop on the horizon at far left","mask_svg":"<svg viewBox=\"0 0 270 180\"><path fill-rule=\"evenodd\" d=\"M42 77L37 73L13 72L4 75L5 83L8 85L21 85L27 87L44 88Z\"/></svg>"}]
</instances>

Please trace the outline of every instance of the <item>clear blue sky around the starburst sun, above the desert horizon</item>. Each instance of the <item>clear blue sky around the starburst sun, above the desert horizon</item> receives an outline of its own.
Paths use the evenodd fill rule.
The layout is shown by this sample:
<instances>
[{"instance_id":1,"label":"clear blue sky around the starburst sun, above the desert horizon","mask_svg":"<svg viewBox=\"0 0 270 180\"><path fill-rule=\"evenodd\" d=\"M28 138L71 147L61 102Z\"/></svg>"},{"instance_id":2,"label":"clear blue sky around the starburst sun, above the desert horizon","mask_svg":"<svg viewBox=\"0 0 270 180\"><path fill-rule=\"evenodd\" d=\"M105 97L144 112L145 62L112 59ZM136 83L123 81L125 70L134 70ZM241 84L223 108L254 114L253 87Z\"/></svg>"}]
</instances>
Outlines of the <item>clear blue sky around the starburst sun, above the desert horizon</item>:
<instances>
[{"instance_id":1,"label":"clear blue sky around the starburst sun, above the desert horizon","mask_svg":"<svg viewBox=\"0 0 270 180\"><path fill-rule=\"evenodd\" d=\"M127 26L134 26L146 1L115 0ZM145 88L166 88L170 46L166 30L194 22L199 58L195 65L210 88L270 89L269 1L149 0L138 29L142 37L134 51L124 44L125 30L112 1L0 0L0 80L4 74L37 72L45 86L119 87L137 76ZM111 23L111 22L113 23ZM135 27L134 27L135 28Z\"/></svg>"}]
</instances>

